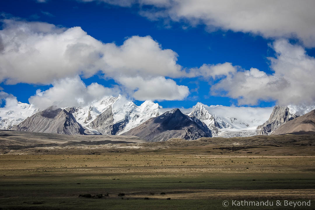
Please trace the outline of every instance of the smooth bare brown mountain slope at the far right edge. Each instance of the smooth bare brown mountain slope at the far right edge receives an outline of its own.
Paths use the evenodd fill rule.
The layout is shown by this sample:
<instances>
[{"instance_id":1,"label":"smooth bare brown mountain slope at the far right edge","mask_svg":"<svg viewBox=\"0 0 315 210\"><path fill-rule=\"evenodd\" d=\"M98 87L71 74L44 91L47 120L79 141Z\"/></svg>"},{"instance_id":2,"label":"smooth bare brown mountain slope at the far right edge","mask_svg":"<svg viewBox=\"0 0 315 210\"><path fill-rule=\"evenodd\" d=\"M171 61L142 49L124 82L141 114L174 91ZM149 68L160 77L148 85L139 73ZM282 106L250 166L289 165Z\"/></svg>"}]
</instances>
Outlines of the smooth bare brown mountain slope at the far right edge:
<instances>
[{"instance_id":1,"label":"smooth bare brown mountain slope at the far right edge","mask_svg":"<svg viewBox=\"0 0 315 210\"><path fill-rule=\"evenodd\" d=\"M315 110L281 125L272 134L315 134Z\"/></svg>"}]
</instances>

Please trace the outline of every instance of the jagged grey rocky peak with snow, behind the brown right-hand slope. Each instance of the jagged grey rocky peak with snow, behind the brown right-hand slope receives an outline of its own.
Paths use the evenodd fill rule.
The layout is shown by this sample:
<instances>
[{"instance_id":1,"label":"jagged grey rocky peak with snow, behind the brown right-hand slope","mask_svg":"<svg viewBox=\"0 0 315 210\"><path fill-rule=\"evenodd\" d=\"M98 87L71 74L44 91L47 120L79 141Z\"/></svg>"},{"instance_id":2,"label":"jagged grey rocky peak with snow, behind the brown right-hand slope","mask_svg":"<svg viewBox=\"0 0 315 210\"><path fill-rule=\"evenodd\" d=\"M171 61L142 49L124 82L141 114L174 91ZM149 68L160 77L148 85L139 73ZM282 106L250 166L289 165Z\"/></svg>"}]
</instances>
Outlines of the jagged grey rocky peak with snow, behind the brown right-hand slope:
<instances>
[{"instance_id":1,"label":"jagged grey rocky peak with snow, behind the brown right-hand slope","mask_svg":"<svg viewBox=\"0 0 315 210\"><path fill-rule=\"evenodd\" d=\"M302 116L315 109L315 106L278 106L276 105L269 119L262 125L257 127L258 134L269 135L272 134L277 128L284 123L295 119L296 117Z\"/></svg>"}]
</instances>

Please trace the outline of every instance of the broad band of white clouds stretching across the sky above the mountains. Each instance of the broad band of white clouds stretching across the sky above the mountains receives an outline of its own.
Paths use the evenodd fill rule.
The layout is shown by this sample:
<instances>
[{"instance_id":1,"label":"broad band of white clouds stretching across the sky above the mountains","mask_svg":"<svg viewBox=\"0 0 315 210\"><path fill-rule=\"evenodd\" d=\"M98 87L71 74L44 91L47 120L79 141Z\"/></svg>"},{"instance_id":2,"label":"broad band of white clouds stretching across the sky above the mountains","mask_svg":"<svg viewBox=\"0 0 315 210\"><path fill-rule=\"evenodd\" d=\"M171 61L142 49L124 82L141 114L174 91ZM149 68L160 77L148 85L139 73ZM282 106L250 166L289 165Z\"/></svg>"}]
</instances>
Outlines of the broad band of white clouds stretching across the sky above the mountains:
<instances>
[{"instance_id":1,"label":"broad band of white clouds stretching across the sky above the mountains","mask_svg":"<svg viewBox=\"0 0 315 210\"><path fill-rule=\"evenodd\" d=\"M150 2L157 4L154 0ZM162 1L159 5L172 7L174 2ZM229 62L185 69L177 63L176 52L163 49L150 36L129 37L118 46L102 43L80 27L67 29L16 20L3 23L0 82L52 84L49 90L38 91L30 98L30 103L40 107L75 106L83 100L89 102L92 98L117 94L119 89L136 100L183 100L189 89L172 78L184 77L212 79L215 84L211 94L238 99L238 105L257 105L260 100L275 100L279 105L315 101L315 58L286 39L272 44L276 57L268 59L274 73L268 75L254 67L243 70ZM86 86L79 77L91 77L97 72L114 79L119 88L105 88L97 83ZM69 94L72 96L67 97Z\"/></svg>"}]
</instances>

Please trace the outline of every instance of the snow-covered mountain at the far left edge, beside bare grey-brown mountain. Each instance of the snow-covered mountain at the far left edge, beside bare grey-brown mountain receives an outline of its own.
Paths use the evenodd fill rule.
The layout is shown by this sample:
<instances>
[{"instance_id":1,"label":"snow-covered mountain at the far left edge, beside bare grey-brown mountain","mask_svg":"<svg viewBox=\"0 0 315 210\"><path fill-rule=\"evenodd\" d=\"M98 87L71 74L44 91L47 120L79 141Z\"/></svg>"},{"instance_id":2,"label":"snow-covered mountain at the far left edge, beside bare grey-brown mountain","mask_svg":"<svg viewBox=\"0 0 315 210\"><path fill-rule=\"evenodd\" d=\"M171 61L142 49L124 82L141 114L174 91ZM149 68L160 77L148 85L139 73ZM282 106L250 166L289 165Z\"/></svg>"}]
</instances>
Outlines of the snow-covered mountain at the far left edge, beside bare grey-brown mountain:
<instances>
[{"instance_id":1,"label":"snow-covered mountain at the far left edge, beside bare grey-brown mountain","mask_svg":"<svg viewBox=\"0 0 315 210\"><path fill-rule=\"evenodd\" d=\"M39 111L40 109L33 105L18 102L15 98L7 98L5 106L0 108L0 129L9 130Z\"/></svg>"}]
</instances>

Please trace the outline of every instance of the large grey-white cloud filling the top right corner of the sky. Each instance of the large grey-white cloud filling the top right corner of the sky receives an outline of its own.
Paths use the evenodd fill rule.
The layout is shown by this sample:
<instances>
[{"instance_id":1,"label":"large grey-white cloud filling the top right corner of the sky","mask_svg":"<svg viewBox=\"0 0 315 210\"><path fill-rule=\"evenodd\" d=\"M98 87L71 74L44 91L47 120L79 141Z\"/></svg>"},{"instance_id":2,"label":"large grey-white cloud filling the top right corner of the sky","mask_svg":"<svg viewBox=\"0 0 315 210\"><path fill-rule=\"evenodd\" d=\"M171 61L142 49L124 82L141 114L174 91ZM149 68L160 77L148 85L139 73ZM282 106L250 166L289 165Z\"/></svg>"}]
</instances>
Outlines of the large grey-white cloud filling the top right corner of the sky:
<instances>
[{"instance_id":1,"label":"large grey-white cloud filling the top right corner of the sky","mask_svg":"<svg viewBox=\"0 0 315 210\"><path fill-rule=\"evenodd\" d=\"M86 0L93 1L93 0ZM100 0L97 0L100 1ZM131 0L103 2L119 6L153 5L140 10L149 19L170 19L205 24L207 30L249 32L263 37L295 37L307 47L315 47L315 1L304 0Z\"/></svg>"}]
</instances>

